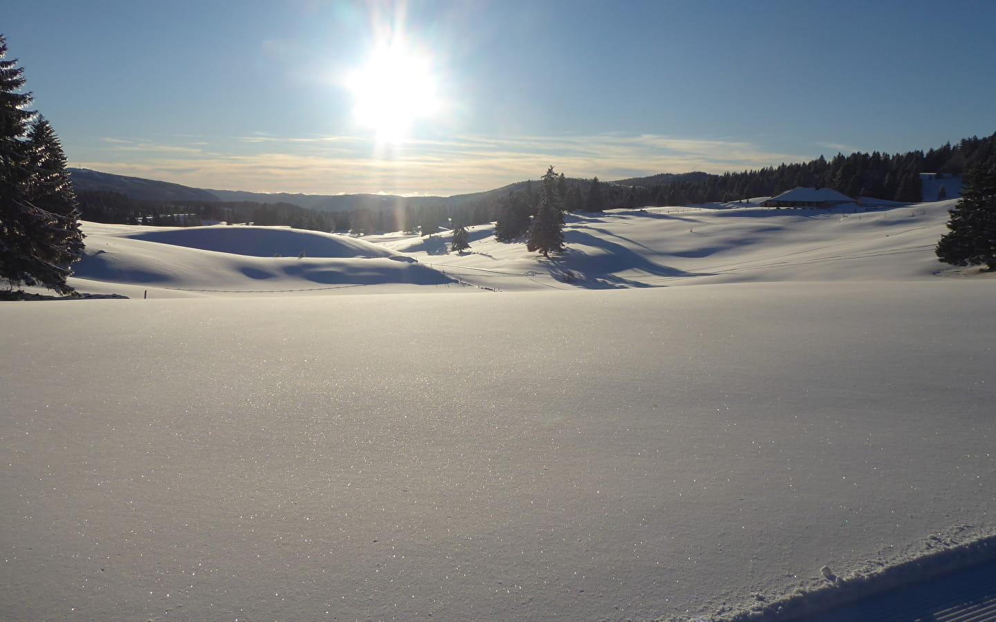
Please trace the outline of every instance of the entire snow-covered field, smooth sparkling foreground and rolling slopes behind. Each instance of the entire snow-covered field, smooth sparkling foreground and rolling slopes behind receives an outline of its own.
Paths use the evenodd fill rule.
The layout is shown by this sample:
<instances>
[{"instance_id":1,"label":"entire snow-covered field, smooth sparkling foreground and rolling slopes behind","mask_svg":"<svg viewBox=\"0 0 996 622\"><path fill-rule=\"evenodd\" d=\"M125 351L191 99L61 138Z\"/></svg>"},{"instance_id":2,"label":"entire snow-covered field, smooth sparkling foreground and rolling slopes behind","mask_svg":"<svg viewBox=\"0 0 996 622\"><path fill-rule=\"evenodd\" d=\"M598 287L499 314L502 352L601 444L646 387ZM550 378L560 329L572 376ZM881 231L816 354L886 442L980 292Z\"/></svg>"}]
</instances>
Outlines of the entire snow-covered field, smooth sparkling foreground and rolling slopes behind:
<instances>
[{"instance_id":1,"label":"entire snow-covered field, smooth sparkling foreground and rolling slopes behind","mask_svg":"<svg viewBox=\"0 0 996 622\"><path fill-rule=\"evenodd\" d=\"M986 558L952 205L583 215L549 261L88 223L73 284L132 300L0 305L0 618L776 619Z\"/></svg>"}]
</instances>

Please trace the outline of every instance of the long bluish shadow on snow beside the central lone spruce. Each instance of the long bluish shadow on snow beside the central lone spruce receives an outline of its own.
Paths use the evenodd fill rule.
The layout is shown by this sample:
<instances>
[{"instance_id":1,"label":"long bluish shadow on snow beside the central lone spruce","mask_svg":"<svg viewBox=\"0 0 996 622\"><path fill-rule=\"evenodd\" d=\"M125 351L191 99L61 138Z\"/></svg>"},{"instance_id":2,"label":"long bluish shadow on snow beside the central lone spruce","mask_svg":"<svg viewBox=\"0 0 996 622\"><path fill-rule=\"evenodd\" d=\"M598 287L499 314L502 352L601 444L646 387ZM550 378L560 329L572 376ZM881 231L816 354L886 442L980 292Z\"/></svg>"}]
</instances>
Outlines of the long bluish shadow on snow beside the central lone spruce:
<instances>
[{"instance_id":1,"label":"long bluish shadow on snow beside the central lone spruce","mask_svg":"<svg viewBox=\"0 0 996 622\"><path fill-rule=\"evenodd\" d=\"M576 282L578 286L583 288L650 287L645 283L626 279L618 274L629 270L638 270L652 277L665 278L710 276L710 273L690 273L656 264L639 253L633 252L630 248L622 246L622 244L593 236L584 231L569 230L565 232L564 237L571 246L559 263L563 269L578 271L585 275L586 279ZM605 251L605 254L590 255L579 248L586 246L601 249Z\"/></svg>"}]
</instances>

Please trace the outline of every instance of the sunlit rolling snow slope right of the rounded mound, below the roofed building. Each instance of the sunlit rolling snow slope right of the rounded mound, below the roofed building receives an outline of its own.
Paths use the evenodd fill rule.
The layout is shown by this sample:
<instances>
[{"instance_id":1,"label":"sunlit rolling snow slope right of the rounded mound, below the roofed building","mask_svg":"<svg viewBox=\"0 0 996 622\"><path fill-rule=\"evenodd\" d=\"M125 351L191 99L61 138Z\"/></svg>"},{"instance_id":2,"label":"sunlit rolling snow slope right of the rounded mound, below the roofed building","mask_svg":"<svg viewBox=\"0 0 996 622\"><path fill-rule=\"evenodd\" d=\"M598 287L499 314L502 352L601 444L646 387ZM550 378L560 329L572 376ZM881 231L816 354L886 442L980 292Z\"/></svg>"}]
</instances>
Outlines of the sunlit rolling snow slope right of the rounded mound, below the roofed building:
<instances>
[{"instance_id":1,"label":"sunlit rolling snow slope right of the rounded mound, below the roofed building","mask_svg":"<svg viewBox=\"0 0 996 622\"><path fill-rule=\"evenodd\" d=\"M736 205L736 204L731 204ZM933 254L954 201L865 211L758 207L647 208L571 216L563 257L537 261L522 244L474 227L471 250L443 255L449 237L386 246L502 291L609 289L758 281L932 279ZM568 282L568 283L566 283Z\"/></svg>"}]
</instances>

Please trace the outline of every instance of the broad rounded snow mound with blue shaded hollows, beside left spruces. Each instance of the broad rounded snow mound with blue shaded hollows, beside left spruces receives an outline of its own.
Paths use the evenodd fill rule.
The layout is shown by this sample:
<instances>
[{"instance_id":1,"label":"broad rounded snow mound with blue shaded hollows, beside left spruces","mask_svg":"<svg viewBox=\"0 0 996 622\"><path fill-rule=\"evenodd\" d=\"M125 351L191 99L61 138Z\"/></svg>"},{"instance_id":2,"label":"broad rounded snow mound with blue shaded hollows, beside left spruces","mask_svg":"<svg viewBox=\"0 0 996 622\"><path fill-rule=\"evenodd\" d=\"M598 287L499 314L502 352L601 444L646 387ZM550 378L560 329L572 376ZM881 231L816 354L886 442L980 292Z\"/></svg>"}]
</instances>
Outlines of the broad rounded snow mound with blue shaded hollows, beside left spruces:
<instances>
[{"instance_id":1,"label":"broad rounded snow mound with blue shaded hollows, beside left spruces","mask_svg":"<svg viewBox=\"0 0 996 622\"><path fill-rule=\"evenodd\" d=\"M453 283L412 258L346 236L277 227L159 229L84 223L83 230L87 248L73 265L72 281L83 292L144 298L152 289L153 298L175 298L183 296L177 292L329 294ZM269 256L274 249L298 250L291 257ZM298 257L302 251L304 256Z\"/></svg>"}]
</instances>

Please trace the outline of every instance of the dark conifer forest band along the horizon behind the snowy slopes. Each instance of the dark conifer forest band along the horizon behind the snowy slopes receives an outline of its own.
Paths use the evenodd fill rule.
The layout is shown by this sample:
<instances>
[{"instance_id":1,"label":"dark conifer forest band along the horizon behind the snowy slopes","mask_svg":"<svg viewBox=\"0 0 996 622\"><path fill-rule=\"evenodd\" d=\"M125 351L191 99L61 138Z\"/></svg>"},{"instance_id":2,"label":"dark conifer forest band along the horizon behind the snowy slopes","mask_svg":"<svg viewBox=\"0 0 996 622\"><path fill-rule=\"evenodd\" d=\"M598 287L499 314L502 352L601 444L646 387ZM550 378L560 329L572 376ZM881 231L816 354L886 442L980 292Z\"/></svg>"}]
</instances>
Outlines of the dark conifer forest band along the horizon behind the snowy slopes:
<instances>
[{"instance_id":1,"label":"dark conifer forest band along the horizon behind the snowy slopes","mask_svg":"<svg viewBox=\"0 0 996 622\"><path fill-rule=\"evenodd\" d=\"M922 196L920 173L961 175L994 160L996 133L985 138L965 138L957 144L947 143L926 152L839 153L829 160L821 156L809 162L723 175L662 174L621 182L561 177L558 191L566 211L739 201L774 196L796 187L829 187L856 198L918 202L937 199ZM81 218L93 222L181 227L218 222L252 223L368 234L419 229L427 234L439 227L483 224L498 220L510 207L533 213L539 195L538 182L527 181L513 184L505 192L467 195L459 203L440 201L438 205L414 205L397 197L382 209L360 207L322 211L291 203L155 201L134 199L108 190L77 191Z\"/></svg>"}]
</instances>

